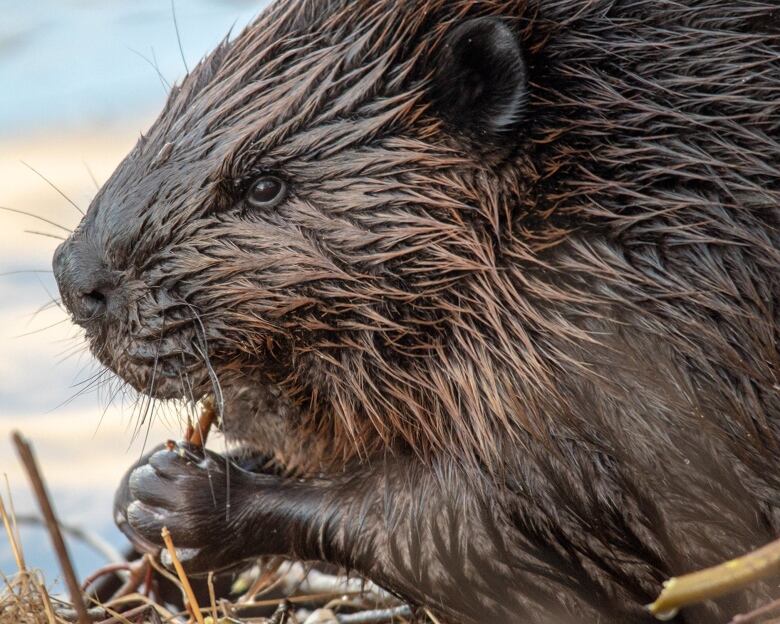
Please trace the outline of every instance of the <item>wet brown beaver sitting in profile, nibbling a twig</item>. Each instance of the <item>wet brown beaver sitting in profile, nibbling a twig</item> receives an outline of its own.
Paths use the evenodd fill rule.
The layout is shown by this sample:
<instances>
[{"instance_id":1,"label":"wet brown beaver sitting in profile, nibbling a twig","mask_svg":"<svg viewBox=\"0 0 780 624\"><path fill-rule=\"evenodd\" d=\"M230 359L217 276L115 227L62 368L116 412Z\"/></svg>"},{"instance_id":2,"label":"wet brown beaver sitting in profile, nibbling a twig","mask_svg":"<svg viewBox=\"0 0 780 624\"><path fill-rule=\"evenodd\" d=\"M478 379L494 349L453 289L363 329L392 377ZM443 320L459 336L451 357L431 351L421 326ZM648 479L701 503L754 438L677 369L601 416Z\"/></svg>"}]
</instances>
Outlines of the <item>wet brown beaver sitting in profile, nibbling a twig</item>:
<instances>
[{"instance_id":1,"label":"wet brown beaver sitting in profile, nibbling a twig","mask_svg":"<svg viewBox=\"0 0 780 624\"><path fill-rule=\"evenodd\" d=\"M779 93L775 0L278 0L54 257L103 365L274 461L157 449L124 529L442 622L651 621L780 535Z\"/></svg>"}]
</instances>

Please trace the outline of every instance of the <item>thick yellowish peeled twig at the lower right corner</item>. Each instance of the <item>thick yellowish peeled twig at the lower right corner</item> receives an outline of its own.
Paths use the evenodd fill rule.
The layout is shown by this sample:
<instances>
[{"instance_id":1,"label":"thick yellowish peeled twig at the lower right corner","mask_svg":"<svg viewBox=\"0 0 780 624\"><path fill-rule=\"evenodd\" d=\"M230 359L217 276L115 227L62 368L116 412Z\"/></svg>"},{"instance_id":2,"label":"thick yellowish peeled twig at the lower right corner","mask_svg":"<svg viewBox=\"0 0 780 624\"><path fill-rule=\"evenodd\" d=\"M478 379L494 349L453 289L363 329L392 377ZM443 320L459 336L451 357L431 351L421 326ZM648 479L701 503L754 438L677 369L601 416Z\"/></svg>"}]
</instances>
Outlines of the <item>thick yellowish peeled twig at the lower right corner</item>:
<instances>
[{"instance_id":1,"label":"thick yellowish peeled twig at the lower right corner","mask_svg":"<svg viewBox=\"0 0 780 624\"><path fill-rule=\"evenodd\" d=\"M780 540L712 568L669 579L647 608L657 618L671 617L680 607L717 598L776 574L780 574Z\"/></svg>"}]
</instances>

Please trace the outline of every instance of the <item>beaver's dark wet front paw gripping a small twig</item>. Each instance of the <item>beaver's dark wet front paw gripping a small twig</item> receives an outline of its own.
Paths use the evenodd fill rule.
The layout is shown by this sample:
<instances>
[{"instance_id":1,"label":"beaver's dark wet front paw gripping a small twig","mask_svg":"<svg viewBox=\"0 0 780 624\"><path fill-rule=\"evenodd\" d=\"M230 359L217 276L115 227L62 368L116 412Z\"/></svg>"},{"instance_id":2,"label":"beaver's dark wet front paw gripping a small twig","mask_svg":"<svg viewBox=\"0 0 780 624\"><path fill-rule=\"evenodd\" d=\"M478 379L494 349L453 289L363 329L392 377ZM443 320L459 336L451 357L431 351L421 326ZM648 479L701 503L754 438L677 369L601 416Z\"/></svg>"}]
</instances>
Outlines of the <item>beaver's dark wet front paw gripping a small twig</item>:
<instances>
[{"instance_id":1,"label":"beaver's dark wet front paw gripping a small twig","mask_svg":"<svg viewBox=\"0 0 780 624\"><path fill-rule=\"evenodd\" d=\"M125 475L115 500L117 524L147 552L161 548L167 527L188 574L224 570L252 557L243 548L242 501L263 478L201 448L163 445ZM165 550L161 559L171 564Z\"/></svg>"}]
</instances>

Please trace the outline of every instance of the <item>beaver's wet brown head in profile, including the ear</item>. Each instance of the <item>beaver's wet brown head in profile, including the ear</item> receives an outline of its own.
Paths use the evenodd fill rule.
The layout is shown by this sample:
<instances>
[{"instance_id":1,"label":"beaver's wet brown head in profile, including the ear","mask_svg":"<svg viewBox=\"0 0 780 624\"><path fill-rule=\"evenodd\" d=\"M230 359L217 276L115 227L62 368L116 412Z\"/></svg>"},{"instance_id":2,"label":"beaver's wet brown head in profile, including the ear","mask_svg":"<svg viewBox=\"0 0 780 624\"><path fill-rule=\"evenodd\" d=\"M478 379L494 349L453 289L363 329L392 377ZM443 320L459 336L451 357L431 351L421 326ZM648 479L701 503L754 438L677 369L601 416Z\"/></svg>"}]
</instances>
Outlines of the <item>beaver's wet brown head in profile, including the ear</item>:
<instances>
[{"instance_id":1,"label":"beaver's wet brown head in profile, including the ear","mask_svg":"<svg viewBox=\"0 0 780 624\"><path fill-rule=\"evenodd\" d=\"M441 345L437 293L517 194L527 87L516 23L436 4L280 3L174 90L55 257L103 364L191 398Z\"/></svg>"}]
</instances>

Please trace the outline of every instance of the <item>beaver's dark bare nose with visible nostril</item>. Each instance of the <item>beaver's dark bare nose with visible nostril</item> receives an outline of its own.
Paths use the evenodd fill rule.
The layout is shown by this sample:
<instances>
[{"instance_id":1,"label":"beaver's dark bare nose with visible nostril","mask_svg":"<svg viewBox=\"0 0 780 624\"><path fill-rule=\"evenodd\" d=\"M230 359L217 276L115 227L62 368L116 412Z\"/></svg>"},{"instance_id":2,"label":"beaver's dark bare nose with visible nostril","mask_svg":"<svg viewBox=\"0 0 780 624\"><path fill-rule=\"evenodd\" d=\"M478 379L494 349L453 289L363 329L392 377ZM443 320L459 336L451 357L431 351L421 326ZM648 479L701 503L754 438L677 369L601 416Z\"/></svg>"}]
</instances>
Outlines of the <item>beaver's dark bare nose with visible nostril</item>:
<instances>
[{"instance_id":1,"label":"beaver's dark bare nose with visible nostril","mask_svg":"<svg viewBox=\"0 0 780 624\"><path fill-rule=\"evenodd\" d=\"M76 323L86 327L105 315L115 282L94 249L67 240L54 252L52 266L62 302Z\"/></svg>"}]
</instances>

